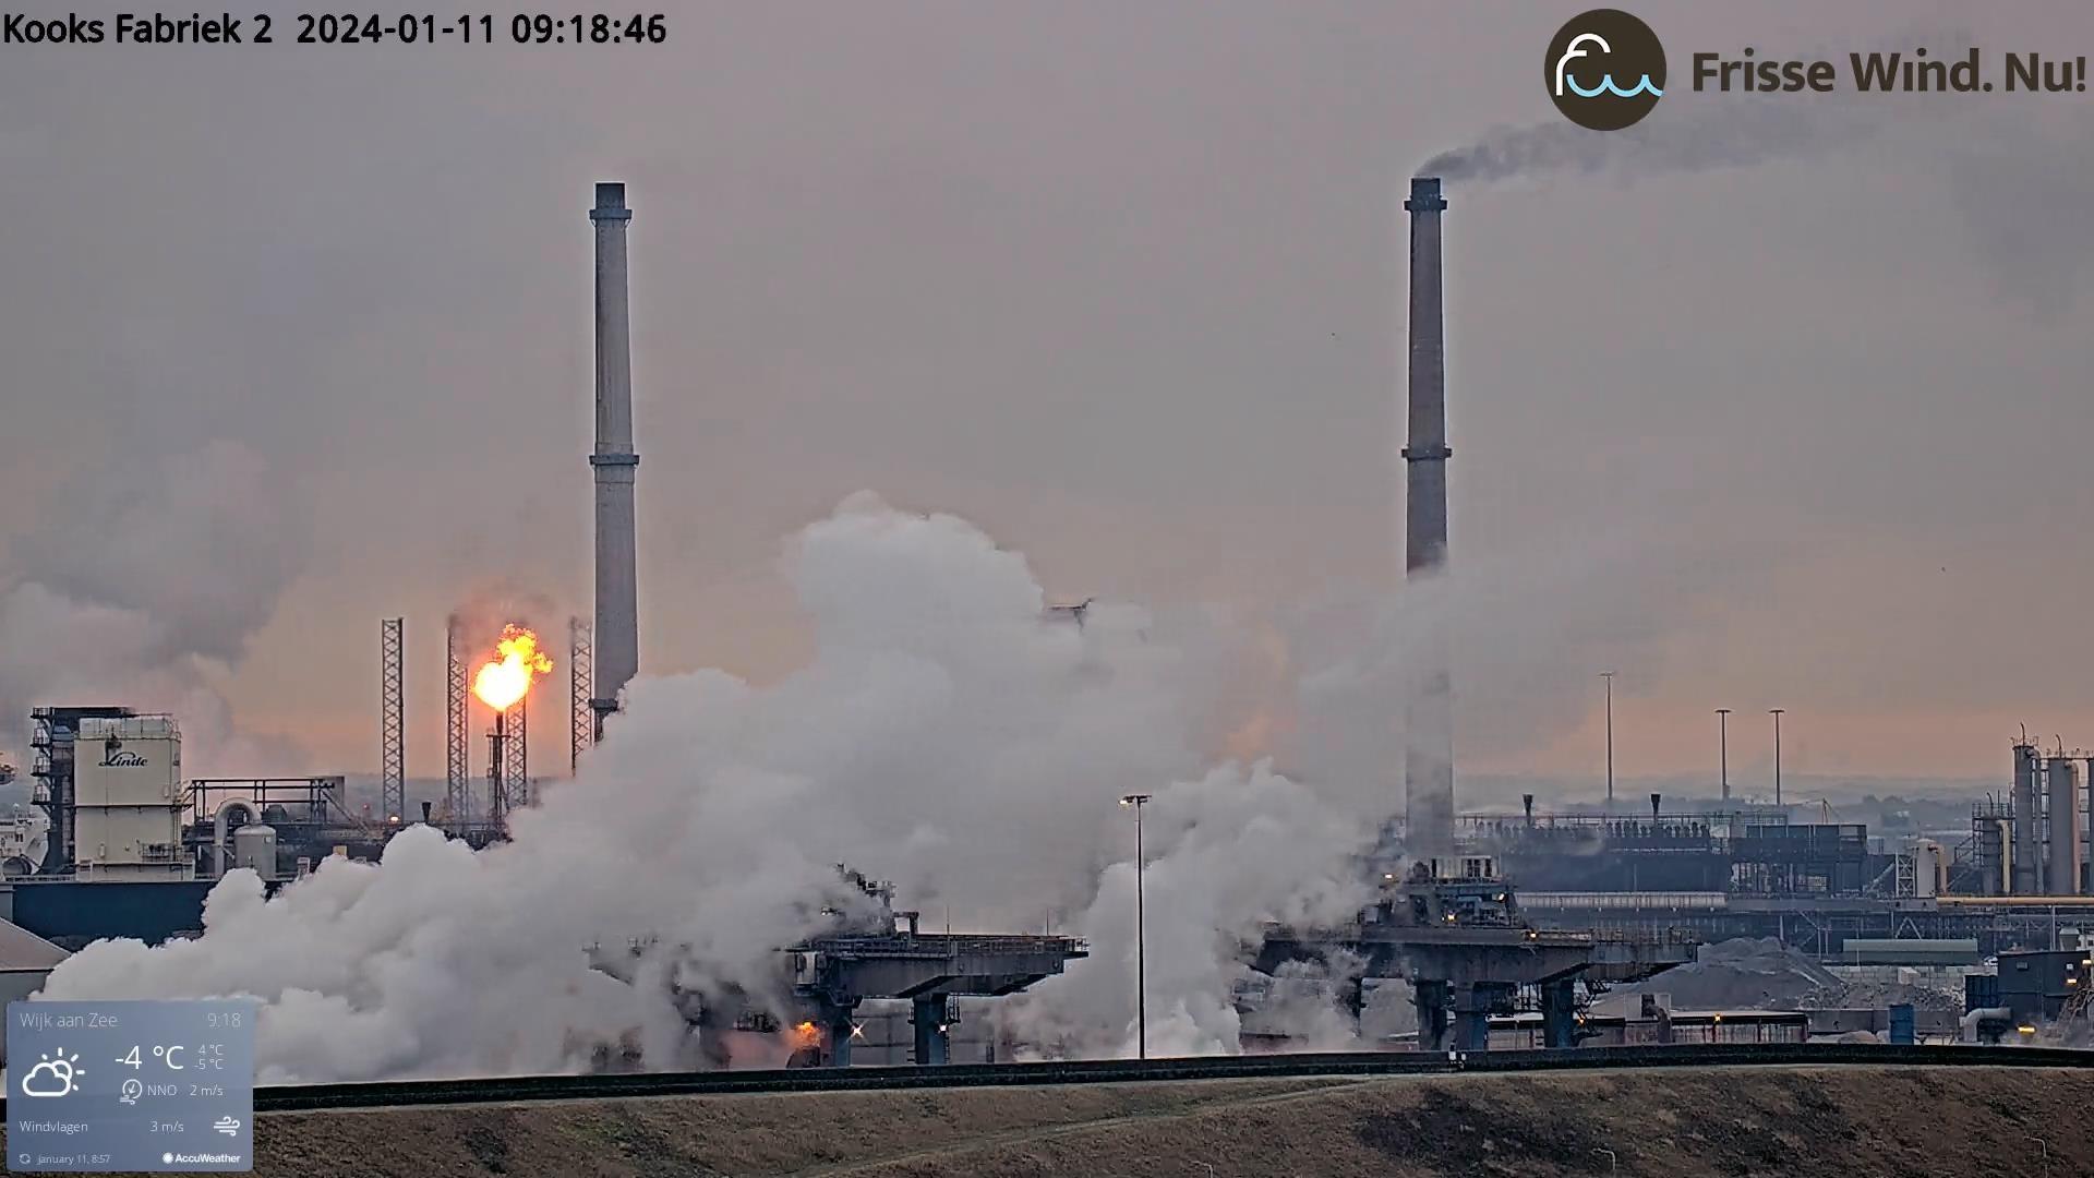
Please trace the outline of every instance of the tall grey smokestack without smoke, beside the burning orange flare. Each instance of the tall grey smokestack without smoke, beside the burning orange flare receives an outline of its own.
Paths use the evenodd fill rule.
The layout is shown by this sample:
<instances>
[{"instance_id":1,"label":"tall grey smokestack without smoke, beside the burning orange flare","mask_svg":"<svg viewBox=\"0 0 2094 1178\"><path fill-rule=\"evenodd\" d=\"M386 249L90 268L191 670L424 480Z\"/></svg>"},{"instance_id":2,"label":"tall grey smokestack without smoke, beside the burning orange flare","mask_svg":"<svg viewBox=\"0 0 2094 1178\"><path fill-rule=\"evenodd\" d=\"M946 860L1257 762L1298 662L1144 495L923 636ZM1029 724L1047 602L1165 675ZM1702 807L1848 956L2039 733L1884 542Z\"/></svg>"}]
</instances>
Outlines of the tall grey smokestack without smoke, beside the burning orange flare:
<instances>
[{"instance_id":1,"label":"tall grey smokestack without smoke, beside the burning orange flare","mask_svg":"<svg viewBox=\"0 0 2094 1178\"><path fill-rule=\"evenodd\" d=\"M639 558L632 547L632 331L626 321L626 210L624 184L597 184L597 683L588 706L603 717L618 711L618 692L641 669Z\"/></svg>"}]
</instances>

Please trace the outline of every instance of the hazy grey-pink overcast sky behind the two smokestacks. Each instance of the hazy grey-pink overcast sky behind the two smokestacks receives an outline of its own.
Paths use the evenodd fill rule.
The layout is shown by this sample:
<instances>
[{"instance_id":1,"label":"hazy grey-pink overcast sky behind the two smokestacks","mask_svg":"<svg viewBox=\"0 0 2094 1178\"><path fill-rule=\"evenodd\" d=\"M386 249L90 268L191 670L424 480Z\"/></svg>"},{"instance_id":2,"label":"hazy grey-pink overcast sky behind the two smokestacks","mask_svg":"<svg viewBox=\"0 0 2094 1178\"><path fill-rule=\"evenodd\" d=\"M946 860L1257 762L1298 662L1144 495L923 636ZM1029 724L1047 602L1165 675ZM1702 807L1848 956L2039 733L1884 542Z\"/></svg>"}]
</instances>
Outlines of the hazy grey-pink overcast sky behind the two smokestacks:
<instances>
[{"instance_id":1,"label":"hazy grey-pink overcast sky behind the two smokestacks","mask_svg":"<svg viewBox=\"0 0 2094 1178\"><path fill-rule=\"evenodd\" d=\"M2069 4L1638 10L1679 78L2094 40ZM802 667L779 549L861 488L1051 597L1227 616L1273 650L1246 692L1315 667L1405 608L1401 189L1556 119L1562 15L704 4L632 57L17 54L0 704L174 708L193 776L356 771L404 614L408 771L440 767L444 616L528 602L563 658L588 612L605 178L643 673ZM1738 782L1769 706L1795 780L2094 744L2084 107L1885 101L1740 166L1449 184L1460 782L1598 780L1600 671L1623 782L1713 780L1717 706Z\"/></svg>"}]
</instances>

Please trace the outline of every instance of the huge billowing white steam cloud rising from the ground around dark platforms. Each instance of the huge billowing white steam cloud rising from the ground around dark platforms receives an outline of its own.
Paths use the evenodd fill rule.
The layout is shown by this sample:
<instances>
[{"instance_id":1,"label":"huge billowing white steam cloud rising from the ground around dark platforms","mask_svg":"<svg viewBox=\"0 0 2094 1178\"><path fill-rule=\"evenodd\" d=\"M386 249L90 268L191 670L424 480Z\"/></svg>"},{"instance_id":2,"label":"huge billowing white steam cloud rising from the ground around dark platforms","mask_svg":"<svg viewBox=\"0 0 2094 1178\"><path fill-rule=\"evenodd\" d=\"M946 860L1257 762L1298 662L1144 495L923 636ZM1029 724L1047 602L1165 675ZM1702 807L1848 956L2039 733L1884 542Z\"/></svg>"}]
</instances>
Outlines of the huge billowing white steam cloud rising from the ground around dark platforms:
<instances>
[{"instance_id":1,"label":"huge billowing white steam cloud rising from the ground around dark platforms","mask_svg":"<svg viewBox=\"0 0 2094 1178\"><path fill-rule=\"evenodd\" d=\"M951 516L854 497L806 528L789 576L815 660L771 688L699 671L630 688L580 778L471 853L408 830L381 866L327 861L274 901L237 872L205 935L92 945L46 998L247 994L266 1079L586 1065L639 1042L687 1067L683 989L773 985L833 864L896 878L936 922L1039 926L1085 910L1095 958L1030 1017L1078 1050L1131 1042L1131 815L1150 830L1152 1050L1233 1046L1238 937L1353 903L1367 824L1267 767L1206 771L1227 656L1139 610L1043 620L1024 560ZM1112 849L1110 855L1101 849ZM1110 864L1110 866L1106 866ZM1099 880L1099 870L1104 878ZM651 939L643 981L593 943Z\"/></svg>"}]
</instances>

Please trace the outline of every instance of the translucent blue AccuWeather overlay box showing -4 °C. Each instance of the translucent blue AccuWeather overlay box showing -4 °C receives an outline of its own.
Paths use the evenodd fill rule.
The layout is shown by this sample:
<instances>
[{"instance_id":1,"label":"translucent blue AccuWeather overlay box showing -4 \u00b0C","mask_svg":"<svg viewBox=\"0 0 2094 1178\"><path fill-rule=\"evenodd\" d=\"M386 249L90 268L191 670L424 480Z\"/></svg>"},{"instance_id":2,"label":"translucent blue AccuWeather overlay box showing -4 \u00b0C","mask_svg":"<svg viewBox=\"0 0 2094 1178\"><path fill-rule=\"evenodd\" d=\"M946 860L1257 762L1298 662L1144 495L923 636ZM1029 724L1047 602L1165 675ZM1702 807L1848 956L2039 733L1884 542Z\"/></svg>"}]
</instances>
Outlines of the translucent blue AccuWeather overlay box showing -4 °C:
<instances>
[{"instance_id":1,"label":"translucent blue AccuWeather overlay box showing -4 \u00b0C","mask_svg":"<svg viewBox=\"0 0 2094 1178\"><path fill-rule=\"evenodd\" d=\"M253 1170L253 1002L8 1002L10 1172Z\"/></svg>"}]
</instances>

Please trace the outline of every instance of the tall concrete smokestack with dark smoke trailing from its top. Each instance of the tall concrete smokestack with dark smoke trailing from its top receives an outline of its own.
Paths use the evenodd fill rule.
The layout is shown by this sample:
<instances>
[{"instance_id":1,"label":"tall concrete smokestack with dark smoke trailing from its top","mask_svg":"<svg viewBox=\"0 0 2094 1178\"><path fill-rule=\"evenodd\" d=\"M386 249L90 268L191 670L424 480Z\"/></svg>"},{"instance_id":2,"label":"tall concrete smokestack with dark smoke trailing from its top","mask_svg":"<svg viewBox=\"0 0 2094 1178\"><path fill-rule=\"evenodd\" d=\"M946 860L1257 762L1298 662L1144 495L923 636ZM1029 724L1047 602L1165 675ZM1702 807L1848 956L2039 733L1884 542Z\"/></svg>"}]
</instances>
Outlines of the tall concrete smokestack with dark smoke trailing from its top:
<instances>
[{"instance_id":1,"label":"tall concrete smokestack with dark smoke trailing from its top","mask_svg":"<svg viewBox=\"0 0 2094 1178\"><path fill-rule=\"evenodd\" d=\"M1411 407L1403 446L1405 579L1447 568L1447 342L1441 314L1439 178L1411 180ZM1420 650L1403 725L1403 788L1411 855L1453 851L1453 673L1441 629Z\"/></svg>"}]
</instances>

